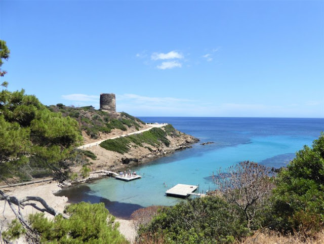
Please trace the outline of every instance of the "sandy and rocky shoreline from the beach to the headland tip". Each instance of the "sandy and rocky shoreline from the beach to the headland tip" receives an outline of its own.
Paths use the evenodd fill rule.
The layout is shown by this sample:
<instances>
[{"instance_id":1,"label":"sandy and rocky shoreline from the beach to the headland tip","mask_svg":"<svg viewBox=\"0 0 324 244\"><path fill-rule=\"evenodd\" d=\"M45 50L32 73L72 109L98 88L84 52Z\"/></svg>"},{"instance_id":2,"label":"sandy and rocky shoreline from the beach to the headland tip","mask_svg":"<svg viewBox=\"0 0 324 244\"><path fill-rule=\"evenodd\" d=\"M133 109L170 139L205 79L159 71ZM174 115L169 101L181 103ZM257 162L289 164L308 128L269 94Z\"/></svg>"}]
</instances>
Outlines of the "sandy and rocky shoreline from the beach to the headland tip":
<instances>
[{"instance_id":1,"label":"sandy and rocky shoreline from the beach to the headland tip","mask_svg":"<svg viewBox=\"0 0 324 244\"><path fill-rule=\"evenodd\" d=\"M128 169L130 167L139 167L144 164L148 164L149 162L152 162L158 158L161 157L167 157L169 155L172 155L175 153L177 150L182 150L182 149L187 149L190 148L191 144L196 143L197 140L194 140L193 142L187 143L186 146L178 146L176 148L168 148L168 152L164 153L164 151L158 155L154 155L152 157L145 157L141 159L141 161L134 162L132 161L130 164L120 164L119 166L113 166L114 171L121 171ZM100 169L98 169L100 170ZM112 169L110 169L112 170ZM2 188L4 192L8 195L16 196L18 199L23 198L25 196L38 196L42 197L49 206L54 208L56 211L63 213L65 207L70 204L68 197L66 196L58 196L57 193L60 192L61 190L68 188L68 187L73 187L77 186L83 183L89 183L95 180L100 180L103 178L109 177L106 173L90 173L90 176L82 181L74 181L74 182L66 182L65 184L61 184L55 180L49 180L49 181L44 181L44 182L37 182L37 183L32 183L28 185L19 185L19 186L8 186ZM34 181L37 181L35 179ZM0 201L0 209L2 212L2 215L0 217L0 229L5 229L5 226L7 226L13 219L16 218L8 204L5 204L5 201ZM37 213L36 209L32 208L31 206L26 206L24 209L22 209L22 214L24 218L27 218L29 214ZM113 214L111 214L113 215ZM48 218L52 218L53 216L45 213L45 216ZM114 215L113 215L114 216ZM135 227L133 225L133 220L132 219L125 219L123 217L116 217L114 216L115 221L119 223L119 231L121 234L123 234L129 241L130 243L133 243L135 240L135 237L137 235L137 232L135 230ZM19 242L20 239L18 240L17 243Z\"/></svg>"}]
</instances>

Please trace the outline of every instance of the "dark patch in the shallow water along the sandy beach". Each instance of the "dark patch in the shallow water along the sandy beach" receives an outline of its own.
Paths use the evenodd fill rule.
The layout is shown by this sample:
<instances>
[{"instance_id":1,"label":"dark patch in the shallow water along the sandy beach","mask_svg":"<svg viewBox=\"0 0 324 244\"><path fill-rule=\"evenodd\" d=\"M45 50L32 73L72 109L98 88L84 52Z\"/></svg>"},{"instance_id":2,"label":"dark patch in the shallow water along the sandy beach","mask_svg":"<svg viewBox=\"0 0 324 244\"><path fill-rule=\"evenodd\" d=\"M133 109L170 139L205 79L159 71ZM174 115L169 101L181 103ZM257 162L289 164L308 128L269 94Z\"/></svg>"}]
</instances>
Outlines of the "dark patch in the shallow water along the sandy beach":
<instances>
[{"instance_id":1,"label":"dark patch in the shallow water along the sandy beach","mask_svg":"<svg viewBox=\"0 0 324 244\"><path fill-rule=\"evenodd\" d=\"M131 214L143 207L137 204L125 204L118 201L110 201L104 197L90 194L91 189L86 185L71 186L55 193L56 196L66 196L70 204L76 204L80 201L97 204L103 202L109 212L120 219L130 219Z\"/></svg>"}]
</instances>

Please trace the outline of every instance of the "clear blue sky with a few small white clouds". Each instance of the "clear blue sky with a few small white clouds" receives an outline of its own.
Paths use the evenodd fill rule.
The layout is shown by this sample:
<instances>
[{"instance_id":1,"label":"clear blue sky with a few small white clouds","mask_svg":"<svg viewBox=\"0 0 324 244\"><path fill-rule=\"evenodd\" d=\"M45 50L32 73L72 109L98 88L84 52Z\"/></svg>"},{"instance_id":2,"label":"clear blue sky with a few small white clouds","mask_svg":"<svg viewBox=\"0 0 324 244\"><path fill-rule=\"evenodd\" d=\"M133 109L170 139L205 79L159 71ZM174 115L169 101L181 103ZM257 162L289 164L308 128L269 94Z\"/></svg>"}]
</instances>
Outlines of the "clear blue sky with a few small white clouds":
<instances>
[{"instance_id":1,"label":"clear blue sky with a few small white clouds","mask_svg":"<svg viewBox=\"0 0 324 244\"><path fill-rule=\"evenodd\" d=\"M324 117L324 1L0 1L1 78L135 116Z\"/></svg>"}]
</instances>

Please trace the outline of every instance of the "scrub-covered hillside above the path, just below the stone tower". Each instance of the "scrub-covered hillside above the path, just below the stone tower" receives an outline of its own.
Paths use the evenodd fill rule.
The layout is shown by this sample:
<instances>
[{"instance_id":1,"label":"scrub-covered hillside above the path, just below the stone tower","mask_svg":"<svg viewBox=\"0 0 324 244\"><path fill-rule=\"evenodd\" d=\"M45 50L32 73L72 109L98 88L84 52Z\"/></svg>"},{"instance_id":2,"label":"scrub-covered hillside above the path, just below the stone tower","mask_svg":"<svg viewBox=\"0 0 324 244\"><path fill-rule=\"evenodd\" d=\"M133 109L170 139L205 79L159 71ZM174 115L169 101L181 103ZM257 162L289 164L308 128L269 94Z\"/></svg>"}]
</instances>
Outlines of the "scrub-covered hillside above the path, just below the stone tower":
<instances>
[{"instance_id":1,"label":"scrub-covered hillside above the path, just below the stone tower","mask_svg":"<svg viewBox=\"0 0 324 244\"><path fill-rule=\"evenodd\" d=\"M96 110L93 106L70 107L61 103L49 106L52 112L61 112L63 116L74 118L82 131L92 139L99 138L99 133L109 134L113 129L126 131L128 128L140 130L145 123L128 113L108 113Z\"/></svg>"}]
</instances>

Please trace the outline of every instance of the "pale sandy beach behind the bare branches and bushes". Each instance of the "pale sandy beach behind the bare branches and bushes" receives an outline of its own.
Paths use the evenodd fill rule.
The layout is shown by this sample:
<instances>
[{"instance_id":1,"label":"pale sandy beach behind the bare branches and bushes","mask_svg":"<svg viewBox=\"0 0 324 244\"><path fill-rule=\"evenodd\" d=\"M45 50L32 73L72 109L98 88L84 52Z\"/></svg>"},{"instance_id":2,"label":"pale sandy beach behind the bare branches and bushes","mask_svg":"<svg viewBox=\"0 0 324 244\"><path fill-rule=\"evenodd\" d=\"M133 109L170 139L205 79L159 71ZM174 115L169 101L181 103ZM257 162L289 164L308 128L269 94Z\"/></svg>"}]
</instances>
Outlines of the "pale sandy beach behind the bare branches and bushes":
<instances>
[{"instance_id":1,"label":"pale sandy beach behind the bare branches and bushes","mask_svg":"<svg viewBox=\"0 0 324 244\"><path fill-rule=\"evenodd\" d=\"M8 187L2 189L6 194L16 196L18 199L25 196L39 196L42 197L49 206L54 208L56 211L62 213L66 205L68 205L68 198L65 196L55 196L54 193L61 190L56 181L50 181L45 183L36 183L27 186L16 186ZM22 213L25 218L29 214L37 213L39 211L35 210L31 206L26 206ZM53 218L52 215L47 214L49 218ZM3 231L5 227L15 219L15 215L12 210L5 204L5 201L0 201L0 231ZM125 237L133 243L136 231L133 227L132 220L123 220L116 218L116 221L119 222L119 231L125 235ZM14 243L25 243L21 238L16 240Z\"/></svg>"}]
</instances>

